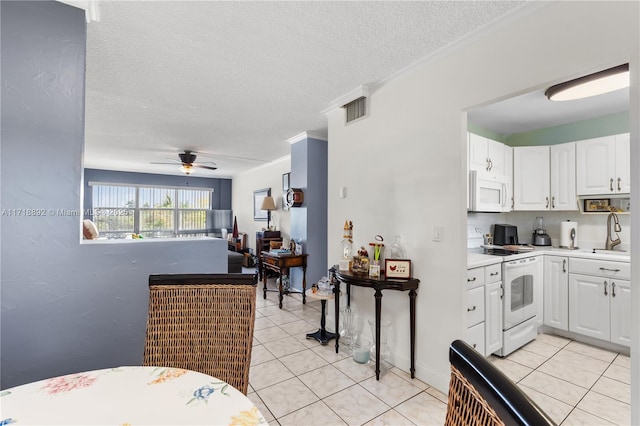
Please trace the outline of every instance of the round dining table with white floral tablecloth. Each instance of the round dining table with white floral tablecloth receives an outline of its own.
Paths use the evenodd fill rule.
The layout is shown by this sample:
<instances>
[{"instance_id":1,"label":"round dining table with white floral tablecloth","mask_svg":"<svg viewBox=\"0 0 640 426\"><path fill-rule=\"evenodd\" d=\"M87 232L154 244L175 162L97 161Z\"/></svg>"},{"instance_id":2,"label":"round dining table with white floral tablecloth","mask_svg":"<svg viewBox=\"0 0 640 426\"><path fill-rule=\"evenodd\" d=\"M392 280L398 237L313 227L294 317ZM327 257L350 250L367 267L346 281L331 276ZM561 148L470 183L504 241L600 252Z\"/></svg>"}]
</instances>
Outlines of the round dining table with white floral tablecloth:
<instances>
[{"instance_id":1,"label":"round dining table with white floral tablecloth","mask_svg":"<svg viewBox=\"0 0 640 426\"><path fill-rule=\"evenodd\" d=\"M266 425L249 398L191 370L117 367L0 391L0 425Z\"/></svg>"}]
</instances>

